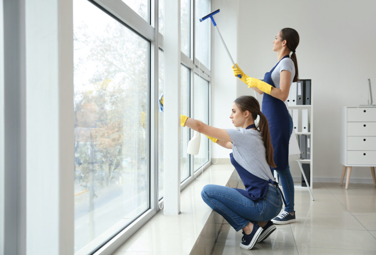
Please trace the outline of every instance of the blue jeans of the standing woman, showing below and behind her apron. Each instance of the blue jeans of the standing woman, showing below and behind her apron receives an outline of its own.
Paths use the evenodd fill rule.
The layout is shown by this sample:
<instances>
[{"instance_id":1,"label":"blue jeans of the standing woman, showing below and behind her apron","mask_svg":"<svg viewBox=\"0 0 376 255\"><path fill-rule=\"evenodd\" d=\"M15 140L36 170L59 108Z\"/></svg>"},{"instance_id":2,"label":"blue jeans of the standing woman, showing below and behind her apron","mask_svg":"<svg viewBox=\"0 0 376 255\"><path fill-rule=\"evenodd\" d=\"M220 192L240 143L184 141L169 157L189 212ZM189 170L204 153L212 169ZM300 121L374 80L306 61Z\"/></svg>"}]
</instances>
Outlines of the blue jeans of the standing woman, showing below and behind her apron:
<instances>
[{"instance_id":1,"label":"blue jeans of the standing woman, showing below and behind her apron","mask_svg":"<svg viewBox=\"0 0 376 255\"><path fill-rule=\"evenodd\" d=\"M293 132L293 118L290 117L290 137ZM282 186L287 206L285 211L294 212L294 181L290 172L290 165L287 165L285 170L276 170L279 176L280 184Z\"/></svg>"}]
</instances>

